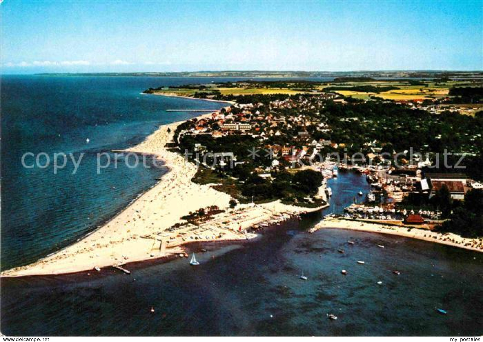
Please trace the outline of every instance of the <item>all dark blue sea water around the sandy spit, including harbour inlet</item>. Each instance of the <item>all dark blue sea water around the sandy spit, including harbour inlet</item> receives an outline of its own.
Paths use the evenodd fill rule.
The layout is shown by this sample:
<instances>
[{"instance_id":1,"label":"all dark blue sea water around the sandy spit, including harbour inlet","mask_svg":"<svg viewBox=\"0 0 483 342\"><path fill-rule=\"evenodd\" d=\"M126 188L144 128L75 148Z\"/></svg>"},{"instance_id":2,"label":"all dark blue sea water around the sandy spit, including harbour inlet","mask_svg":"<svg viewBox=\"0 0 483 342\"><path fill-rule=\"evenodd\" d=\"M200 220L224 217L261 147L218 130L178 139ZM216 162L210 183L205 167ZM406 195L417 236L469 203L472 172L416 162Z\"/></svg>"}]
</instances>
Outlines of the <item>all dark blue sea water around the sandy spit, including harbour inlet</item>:
<instances>
[{"instance_id":1,"label":"all dark blue sea water around the sandy spit, including harbour inlet","mask_svg":"<svg viewBox=\"0 0 483 342\"><path fill-rule=\"evenodd\" d=\"M166 109L220 108L140 94L147 87L197 82L2 76L1 268L75 242L154 185L162 169L120 163L97 174L96 154L199 114ZM76 174L71 163L54 174L52 167L23 168L26 152L85 156ZM359 190L368 191L364 176L351 172L340 172L329 186L334 196L322 213L269 228L255 241L190 245L197 268L181 258L129 264L130 275L105 269L1 279L0 330L23 336L483 333L481 253L349 230L309 234L324 214L340 212ZM342 269L349 274L341 275ZM301 272L307 281L298 279ZM338 320L328 320L328 313Z\"/></svg>"}]
</instances>

